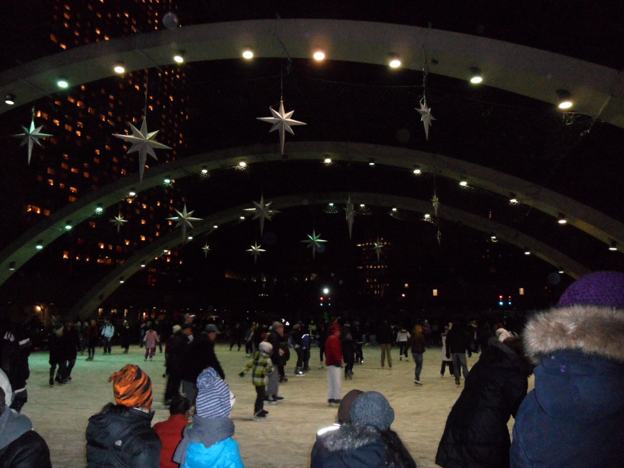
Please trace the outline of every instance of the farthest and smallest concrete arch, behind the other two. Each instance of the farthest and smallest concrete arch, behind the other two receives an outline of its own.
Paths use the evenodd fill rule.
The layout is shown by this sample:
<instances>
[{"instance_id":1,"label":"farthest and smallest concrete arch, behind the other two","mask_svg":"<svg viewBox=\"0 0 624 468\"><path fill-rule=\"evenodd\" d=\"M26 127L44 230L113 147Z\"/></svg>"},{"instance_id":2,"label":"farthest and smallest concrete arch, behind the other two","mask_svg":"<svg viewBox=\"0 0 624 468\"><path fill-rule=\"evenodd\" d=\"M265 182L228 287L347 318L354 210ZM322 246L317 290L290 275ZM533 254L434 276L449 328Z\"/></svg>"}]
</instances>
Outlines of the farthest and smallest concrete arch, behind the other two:
<instances>
[{"instance_id":1,"label":"farthest and smallest concrete arch, behind the other two","mask_svg":"<svg viewBox=\"0 0 624 468\"><path fill-rule=\"evenodd\" d=\"M271 198L273 203L271 207L284 210L286 208L300 207L303 205L319 205L334 203L345 203L348 197L354 203L365 203L366 205L376 205L381 207L396 207L399 210L408 210L414 212L428 212L431 210L431 202L429 200L416 200L414 198L396 197L394 195L383 195L378 193L307 193L303 195L288 195L286 197ZM201 222L194 224L195 229L193 235L198 236L210 230L213 225L223 225L233 222L240 218L242 210L249 207L249 203L238 207L223 210L222 212L213 213L204 218ZM456 208L446 207L442 205L438 209L438 216L454 222L461 222L464 225L480 230L482 232L495 232L497 237L505 240L520 248L528 248L534 255L538 256L550 265L556 268L562 267L563 270L572 278L578 278L590 270L585 268L577 261L567 255L563 255L560 251L545 245L544 243L524 235L517 230L506 227L492 220L467 213ZM341 222L344 222L341 218ZM346 235L346 224L345 224ZM170 232L167 236L151 243L149 246L135 253L128 260L110 271L102 280L97 283L90 291L88 291L82 299L72 308L71 315L85 316L92 313L108 296L110 296L120 286L120 280L127 280L130 276L140 270L142 263L146 259L160 256L162 251L172 249L182 243L182 236L179 230Z\"/></svg>"}]
</instances>

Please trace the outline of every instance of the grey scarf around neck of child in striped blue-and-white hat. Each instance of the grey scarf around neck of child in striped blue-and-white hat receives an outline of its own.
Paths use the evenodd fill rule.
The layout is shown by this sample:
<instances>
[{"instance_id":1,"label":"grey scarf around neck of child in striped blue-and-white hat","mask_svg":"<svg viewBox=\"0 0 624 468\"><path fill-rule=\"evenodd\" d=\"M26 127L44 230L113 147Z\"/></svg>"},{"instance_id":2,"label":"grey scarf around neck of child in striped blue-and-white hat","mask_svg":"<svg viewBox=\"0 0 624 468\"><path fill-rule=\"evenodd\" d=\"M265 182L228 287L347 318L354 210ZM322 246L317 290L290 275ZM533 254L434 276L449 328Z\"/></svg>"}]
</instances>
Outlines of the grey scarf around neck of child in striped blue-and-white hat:
<instances>
[{"instance_id":1,"label":"grey scarf around neck of child in striped blue-and-white hat","mask_svg":"<svg viewBox=\"0 0 624 468\"><path fill-rule=\"evenodd\" d=\"M173 461L183 466L187 462L187 449L192 443L209 449L234 435L234 421L229 417L193 416L193 422L184 428L184 438L173 455Z\"/></svg>"}]
</instances>

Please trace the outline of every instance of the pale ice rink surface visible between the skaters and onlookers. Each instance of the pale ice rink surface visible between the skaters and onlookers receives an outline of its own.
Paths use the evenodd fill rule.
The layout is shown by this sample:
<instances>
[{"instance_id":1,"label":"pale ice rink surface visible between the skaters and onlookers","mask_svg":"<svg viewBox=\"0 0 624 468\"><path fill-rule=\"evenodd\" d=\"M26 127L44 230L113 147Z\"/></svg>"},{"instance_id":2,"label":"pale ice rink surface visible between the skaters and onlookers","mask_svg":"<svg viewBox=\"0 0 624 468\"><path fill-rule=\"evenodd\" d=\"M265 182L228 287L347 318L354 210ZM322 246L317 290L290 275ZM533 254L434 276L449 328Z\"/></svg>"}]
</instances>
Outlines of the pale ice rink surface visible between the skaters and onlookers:
<instances>
[{"instance_id":1,"label":"pale ice rink surface visible between the skaters and onlookers","mask_svg":"<svg viewBox=\"0 0 624 468\"><path fill-rule=\"evenodd\" d=\"M275 406L265 406L270 412L266 421L252 421L255 390L251 374L245 378L238 373L249 359L242 351L228 350L226 344L217 344L217 357L226 374L230 389L236 394L232 418L236 424L234 438L240 446L243 463L250 468L290 468L310 466L310 451L316 431L329 426L336 417L336 408L327 406L327 381L325 369L318 369L318 348L313 348L310 359L311 371L302 377L293 376L293 358L286 366L288 382L280 384L283 401ZM102 355L102 348L95 351L94 361L78 356L72 372L72 381L65 385L48 384L49 364L47 353L36 352L30 357L31 377L28 381L29 401L22 413L29 416L34 429L46 439L50 447L54 468L84 467L85 429L89 416L99 412L102 406L113 401L110 374L125 364L138 364L152 378L154 386L154 422L168 417L163 406L166 379L164 353L158 353L154 361L144 361L144 350L132 346L129 354L115 346L112 355ZM293 356L295 354L293 353ZM392 349L392 369L381 368L380 351L376 346L364 346L364 364L354 366L353 380L343 381L343 394L357 388L383 393L394 408L396 417L392 429L406 444L417 465L435 467L437 444L444 430L446 417L456 401L462 385L457 388L449 374L440 376L441 349L428 348L424 353L421 373L423 385L414 385L414 363L399 361L398 350ZM469 368L479 355L468 359ZM529 379L529 389L533 378ZM511 419L509 427L513 426Z\"/></svg>"}]
</instances>

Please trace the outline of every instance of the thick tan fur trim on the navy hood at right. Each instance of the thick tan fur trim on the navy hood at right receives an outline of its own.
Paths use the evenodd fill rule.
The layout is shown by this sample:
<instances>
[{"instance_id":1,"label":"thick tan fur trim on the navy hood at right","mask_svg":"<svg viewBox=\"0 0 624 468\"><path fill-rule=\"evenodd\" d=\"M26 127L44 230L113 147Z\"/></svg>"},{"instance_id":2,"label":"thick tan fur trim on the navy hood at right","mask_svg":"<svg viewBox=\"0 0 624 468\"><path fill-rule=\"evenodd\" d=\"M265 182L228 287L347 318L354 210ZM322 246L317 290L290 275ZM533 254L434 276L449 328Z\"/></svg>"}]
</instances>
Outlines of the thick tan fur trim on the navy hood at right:
<instances>
[{"instance_id":1,"label":"thick tan fur trim on the navy hood at right","mask_svg":"<svg viewBox=\"0 0 624 468\"><path fill-rule=\"evenodd\" d=\"M535 364L559 349L624 362L624 311L581 305L544 311L529 319L524 342L527 356Z\"/></svg>"}]
</instances>

